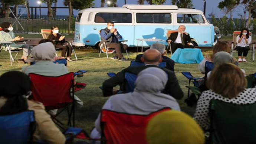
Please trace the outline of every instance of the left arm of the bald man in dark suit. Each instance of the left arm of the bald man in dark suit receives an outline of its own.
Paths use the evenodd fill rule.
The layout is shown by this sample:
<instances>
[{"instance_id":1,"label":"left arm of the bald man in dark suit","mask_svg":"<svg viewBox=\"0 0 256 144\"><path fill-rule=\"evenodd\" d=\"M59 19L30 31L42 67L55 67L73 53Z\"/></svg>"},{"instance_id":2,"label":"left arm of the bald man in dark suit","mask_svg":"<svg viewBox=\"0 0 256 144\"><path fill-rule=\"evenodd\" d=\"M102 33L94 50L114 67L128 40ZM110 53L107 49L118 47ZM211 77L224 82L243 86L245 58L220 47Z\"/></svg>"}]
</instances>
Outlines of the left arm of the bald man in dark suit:
<instances>
[{"instance_id":1,"label":"left arm of the bald man in dark suit","mask_svg":"<svg viewBox=\"0 0 256 144\"><path fill-rule=\"evenodd\" d=\"M118 72L115 76L105 80L102 84L102 92L103 96L111 96L113 95L113 88L117 85L121 85L124 82L124 72Z\"/></svg>"}]
</instances>

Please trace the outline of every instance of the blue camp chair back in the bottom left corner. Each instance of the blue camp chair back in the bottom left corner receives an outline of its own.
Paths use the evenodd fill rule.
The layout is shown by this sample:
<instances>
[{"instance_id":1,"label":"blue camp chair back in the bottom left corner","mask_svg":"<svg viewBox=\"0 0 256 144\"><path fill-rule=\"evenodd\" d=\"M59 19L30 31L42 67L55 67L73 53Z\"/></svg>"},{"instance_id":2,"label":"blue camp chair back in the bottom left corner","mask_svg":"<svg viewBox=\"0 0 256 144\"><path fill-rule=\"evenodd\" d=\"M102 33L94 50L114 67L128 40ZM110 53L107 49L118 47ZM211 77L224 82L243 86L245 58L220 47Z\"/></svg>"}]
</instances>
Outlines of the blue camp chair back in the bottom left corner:
<instances>
[{"instance_id":1,"label":"blue camp chair back in the bottom left corner","mask_svg":"<svg viewBox=\"0 0 256 144\"><path fill-rule=\"evenodd\" d=\"M0 116L1 144L25 144L32 141L35 130L34 111Z\"/></svg>"}]
</instances>

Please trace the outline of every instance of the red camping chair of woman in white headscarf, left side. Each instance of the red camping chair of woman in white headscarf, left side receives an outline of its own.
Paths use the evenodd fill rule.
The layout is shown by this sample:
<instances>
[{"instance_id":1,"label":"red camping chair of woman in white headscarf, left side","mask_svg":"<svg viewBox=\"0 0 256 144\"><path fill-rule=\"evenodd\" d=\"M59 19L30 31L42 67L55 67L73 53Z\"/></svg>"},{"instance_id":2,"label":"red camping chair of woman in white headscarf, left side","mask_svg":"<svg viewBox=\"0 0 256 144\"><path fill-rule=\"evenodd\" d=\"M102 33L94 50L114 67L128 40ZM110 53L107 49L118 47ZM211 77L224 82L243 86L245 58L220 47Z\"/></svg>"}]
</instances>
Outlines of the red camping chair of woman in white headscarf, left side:
<instances>
[{"instance_id":1,"label":"red camping chair of woman in white headscarf, left side","mask_svg":"<svg viewBox=\"0 0 256 144\"><path fill-rule=\"evenodd\" d=\"M58 110L56 116L52 117L52 119L57 121L56 124L60 128L63 128L60 125L63 125L63 123L56 119L56 117L67 109L68 125L71 127L73 124L72 127L75 127L74 73L70 72L56 77L29 73L29 77L32 82L32 99L43 103L47 111L64 108L62 110ZM71 106L71 110L69 109L69 106Z\"/></svg>"}]
</instances>

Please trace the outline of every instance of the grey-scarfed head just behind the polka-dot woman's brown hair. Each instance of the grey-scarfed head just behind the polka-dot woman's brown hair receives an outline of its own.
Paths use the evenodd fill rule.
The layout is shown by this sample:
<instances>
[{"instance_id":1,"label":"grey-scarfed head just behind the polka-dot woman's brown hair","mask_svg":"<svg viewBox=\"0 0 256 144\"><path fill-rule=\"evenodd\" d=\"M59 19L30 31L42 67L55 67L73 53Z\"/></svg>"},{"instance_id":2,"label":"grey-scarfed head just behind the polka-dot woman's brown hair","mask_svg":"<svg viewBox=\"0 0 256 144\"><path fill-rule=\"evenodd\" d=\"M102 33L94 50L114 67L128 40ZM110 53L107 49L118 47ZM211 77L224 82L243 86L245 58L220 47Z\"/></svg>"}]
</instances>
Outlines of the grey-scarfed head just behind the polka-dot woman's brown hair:
<instances>
[{"instance_id":1,"label":"grey-scarfed head just behind the polka-dot woman's brown hair","mask_svg":"<svg viewBox=\"0 0 256 144\"><path fill-rule=\"evenodd\" d=\"M227 52L220 51L213 56L214 65L222 64L224 62L234 63L234 58Z\"/></svg>"}]
</instances>

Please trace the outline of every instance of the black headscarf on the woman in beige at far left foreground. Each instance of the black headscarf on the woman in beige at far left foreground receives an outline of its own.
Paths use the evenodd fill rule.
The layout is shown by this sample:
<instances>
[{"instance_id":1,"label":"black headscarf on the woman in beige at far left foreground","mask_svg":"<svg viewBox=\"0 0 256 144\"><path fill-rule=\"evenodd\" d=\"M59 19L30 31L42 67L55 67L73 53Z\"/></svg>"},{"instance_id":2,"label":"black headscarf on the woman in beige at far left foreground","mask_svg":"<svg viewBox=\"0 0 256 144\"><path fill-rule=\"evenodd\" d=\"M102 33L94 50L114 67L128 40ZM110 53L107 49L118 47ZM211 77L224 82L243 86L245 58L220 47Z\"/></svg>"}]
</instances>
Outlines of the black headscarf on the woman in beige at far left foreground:
<instances>
[{"instance_id":1,"label":"black headscarf on the woman in beige at far left foreground","mask_svg":"<svg viewBox=\"0 0 256 144\"><path fill-rule=\"evenodd\" d=\"M9 115L27 110L26 97L31 95L29 76L23 72L10 71L0 76L0 96L7 99L0 108L0 115Z\"/></svg>"}]
</instances>

